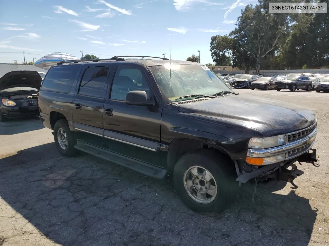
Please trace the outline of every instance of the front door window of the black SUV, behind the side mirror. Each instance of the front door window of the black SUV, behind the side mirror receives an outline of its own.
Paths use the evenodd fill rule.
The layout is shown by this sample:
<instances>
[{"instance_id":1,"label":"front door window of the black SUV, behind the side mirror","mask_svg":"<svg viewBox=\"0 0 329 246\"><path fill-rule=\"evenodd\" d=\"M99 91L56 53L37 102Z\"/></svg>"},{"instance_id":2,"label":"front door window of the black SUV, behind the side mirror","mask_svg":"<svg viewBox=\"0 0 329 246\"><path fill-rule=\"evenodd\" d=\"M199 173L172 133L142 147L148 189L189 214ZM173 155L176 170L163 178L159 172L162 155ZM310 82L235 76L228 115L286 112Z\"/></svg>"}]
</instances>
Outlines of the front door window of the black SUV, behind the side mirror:
<instances>
[{"instance_id":1,"label":"front door window of the black SUV, behind the side mirror","mask_svg":"<svg viewBox=\"0 0 329 246\"><path fill-rule=\"evenodd\" d=\"M149 98L149 87L144 75L136 68L118 68L114 75L111 99L124 101L130 91L145 91Z\"/></svg>"}]
</instances>

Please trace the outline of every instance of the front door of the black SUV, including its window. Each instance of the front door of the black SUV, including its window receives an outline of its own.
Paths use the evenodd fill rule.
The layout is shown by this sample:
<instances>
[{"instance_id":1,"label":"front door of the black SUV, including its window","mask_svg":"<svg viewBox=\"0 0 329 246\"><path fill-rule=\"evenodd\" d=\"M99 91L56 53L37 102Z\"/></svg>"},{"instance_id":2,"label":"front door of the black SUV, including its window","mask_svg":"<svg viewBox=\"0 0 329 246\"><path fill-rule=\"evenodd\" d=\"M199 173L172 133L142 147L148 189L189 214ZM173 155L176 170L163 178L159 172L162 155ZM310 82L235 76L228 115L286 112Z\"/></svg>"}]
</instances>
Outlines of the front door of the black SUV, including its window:
<instances>
[{"instance_id":1,"label":"front door of the black SUV, including its window","mask_svg":"<svg viewBox=\"0 0 329 246\"><path fill-rule=\"evenodd\" d=\"M152 78L140 65L117 67L104 104L104 138L111 151L162 167L159 162L162 104L155 100L148 85ZM126 94L131 90L145 91L155 105L126 104Z\"/></svg>"}]
</instances>

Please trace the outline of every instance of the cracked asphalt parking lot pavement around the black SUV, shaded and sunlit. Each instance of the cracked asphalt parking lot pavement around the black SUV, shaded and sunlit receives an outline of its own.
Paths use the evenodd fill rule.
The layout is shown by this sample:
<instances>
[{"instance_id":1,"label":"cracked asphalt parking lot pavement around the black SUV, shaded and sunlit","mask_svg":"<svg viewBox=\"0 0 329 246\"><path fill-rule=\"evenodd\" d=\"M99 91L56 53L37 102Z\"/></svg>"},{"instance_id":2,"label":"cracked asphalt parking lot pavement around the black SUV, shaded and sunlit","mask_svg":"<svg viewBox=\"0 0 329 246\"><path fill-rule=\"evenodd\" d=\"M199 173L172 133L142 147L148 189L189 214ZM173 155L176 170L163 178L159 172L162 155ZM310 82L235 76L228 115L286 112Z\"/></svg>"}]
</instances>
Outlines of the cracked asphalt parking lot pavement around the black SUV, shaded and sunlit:
<instances>
[{"instance_id":1,"label":"cracked asphalt parking lot pavement around the black SUV, shaded and sunlit","mask_svg":"<svg viewBox=\"0 0 329 246\"><path fill-rule=\"evenodd\" d=\"M61 156L36 119L0 123L0 245L328 245L329 93L236 90L295 103L318 118L319 167L285 182L242 185L213 217L187 209L171 180L88 154ZM282 116L284 117L284 115Z\"/></svg>"}]
</instances>

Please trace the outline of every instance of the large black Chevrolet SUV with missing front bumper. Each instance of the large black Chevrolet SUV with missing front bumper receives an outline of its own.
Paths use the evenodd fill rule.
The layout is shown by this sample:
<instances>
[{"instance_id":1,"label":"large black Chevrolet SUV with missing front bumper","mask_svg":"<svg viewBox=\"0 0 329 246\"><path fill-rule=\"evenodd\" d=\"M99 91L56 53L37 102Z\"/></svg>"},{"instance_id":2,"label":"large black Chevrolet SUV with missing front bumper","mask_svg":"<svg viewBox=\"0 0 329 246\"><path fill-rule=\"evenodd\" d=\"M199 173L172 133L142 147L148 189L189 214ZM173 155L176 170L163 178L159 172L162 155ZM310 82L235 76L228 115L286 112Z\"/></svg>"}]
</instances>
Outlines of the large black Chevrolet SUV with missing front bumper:
<instances>
[{"instance_id":1,"label":"large black Chevrolet SUV with missing front bumper","mask_svg":"<svg viewBox=\"0 0 329 246\"><path fill-rule=\"evenodd\" d=\"M293 163L318 158L312 111L233 92L195 62L61 62L43 79L39 108L63 155L80 150L171 175L184 204L201 213L224 211L251 179L293 184L303 173Z\"/></svg>"}]
</instances>

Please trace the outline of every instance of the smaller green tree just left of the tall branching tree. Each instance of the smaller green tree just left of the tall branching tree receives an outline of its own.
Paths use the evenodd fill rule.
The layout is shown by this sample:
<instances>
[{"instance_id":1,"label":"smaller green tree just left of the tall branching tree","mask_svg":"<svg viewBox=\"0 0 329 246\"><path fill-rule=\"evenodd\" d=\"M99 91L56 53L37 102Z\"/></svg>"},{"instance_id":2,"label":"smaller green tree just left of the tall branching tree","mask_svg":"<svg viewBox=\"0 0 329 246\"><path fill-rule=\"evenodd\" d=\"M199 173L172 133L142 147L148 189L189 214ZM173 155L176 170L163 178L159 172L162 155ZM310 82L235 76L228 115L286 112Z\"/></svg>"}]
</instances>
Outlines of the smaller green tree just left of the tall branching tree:
<instances>
[{"instance_id":1,"label":"smaller green tree just left of the tall branching tree","mask_svg":"<svg viewBox=\"0 0 329 246\"><path fill-rule=\"evenodd\" d=\"M232 66L233 38L228 35L211 37L210 52L216 66Z\"/></svg>"}]
</instances>

